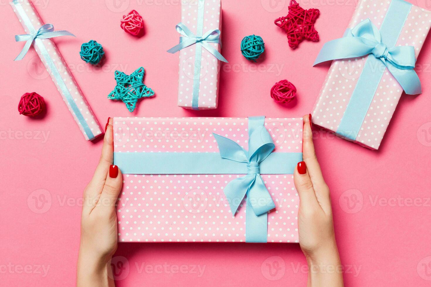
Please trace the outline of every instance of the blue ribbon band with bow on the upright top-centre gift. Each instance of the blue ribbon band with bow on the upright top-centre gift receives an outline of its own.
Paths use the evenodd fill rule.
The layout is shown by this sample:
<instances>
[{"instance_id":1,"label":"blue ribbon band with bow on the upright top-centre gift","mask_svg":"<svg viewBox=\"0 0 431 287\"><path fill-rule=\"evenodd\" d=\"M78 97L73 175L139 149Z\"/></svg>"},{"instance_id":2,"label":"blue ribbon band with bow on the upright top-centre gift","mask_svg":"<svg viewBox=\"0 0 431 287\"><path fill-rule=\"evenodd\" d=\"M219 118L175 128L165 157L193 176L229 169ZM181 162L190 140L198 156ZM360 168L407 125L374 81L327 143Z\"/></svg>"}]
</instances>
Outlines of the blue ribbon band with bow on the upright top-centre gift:
<instances>
[{"instance_id":1,"label":"blue ribbon band with bow on the upright top-centre gift","mask_svg":"<svg viewBox=\"0 0 431 287\"><path fill-rule=\"evenodd\" d=\"M180 42L173 46L168 50L169 53L176 53L181 49L184 49L188 46L196 44L195 51L195 59L194 59L194 73L193 73L193 92L192 92L192 108L194 110L199 110L199 82L200 82L200 65L201 65L201 57L202 57L202 47L205 48L208 52L215 56L215 58L219 59L223 62L228 62L222 54L217 51L213 46L208 43L217 43L222 46L222 40L220 39L220 30L214 29L209 30L205 34L203 34L203 12L205 7L205 0L199 0L197 3L198 11L197 11L197 31L196 35L187 28L183 23L178 23L175 26L175 29L183 35L184 37L180 37Z\"/></svg>"}]
</instances>

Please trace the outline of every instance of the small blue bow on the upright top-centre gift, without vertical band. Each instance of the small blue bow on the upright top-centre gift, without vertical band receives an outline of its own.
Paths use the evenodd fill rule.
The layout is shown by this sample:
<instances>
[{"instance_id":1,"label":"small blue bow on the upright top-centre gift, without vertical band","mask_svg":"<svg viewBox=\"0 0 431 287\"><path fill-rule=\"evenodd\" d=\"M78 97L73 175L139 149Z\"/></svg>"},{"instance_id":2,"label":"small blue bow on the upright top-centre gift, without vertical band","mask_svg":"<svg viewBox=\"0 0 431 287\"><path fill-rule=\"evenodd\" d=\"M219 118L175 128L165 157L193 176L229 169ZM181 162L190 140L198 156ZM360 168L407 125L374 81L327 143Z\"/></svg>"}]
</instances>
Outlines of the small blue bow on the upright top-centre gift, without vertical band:
<instances>
[{"instance_id":1,"label":"small blue bow on the upright top-centre gift, without vertical band","mask_svg":"<svg viewBox=\"0 0 431 287\"><path fill-rule=\"evenodd\" d=\"M222 54L219 53L219 51L217 51L213 46L208 44L208 43L217 43L220 46L222 46L222 40L220 39L219 29L209 30L208 32L203 34L202 37L198 37L195 34L193 34L193 32L190 31L190 29L187 28L187 26L184 25L183 23L178 23L178 25L175 26L175 29L178 31L178 33L180 33L184 37L180 37L180 43L178 43L177 45L169 49L168 50L169 53L173 54L188 46L199 43L208 52L214 55L215 58L226 63L228 62L228 60L226 60L225 57L223 57Z\"/></svg>"}]
</instances>

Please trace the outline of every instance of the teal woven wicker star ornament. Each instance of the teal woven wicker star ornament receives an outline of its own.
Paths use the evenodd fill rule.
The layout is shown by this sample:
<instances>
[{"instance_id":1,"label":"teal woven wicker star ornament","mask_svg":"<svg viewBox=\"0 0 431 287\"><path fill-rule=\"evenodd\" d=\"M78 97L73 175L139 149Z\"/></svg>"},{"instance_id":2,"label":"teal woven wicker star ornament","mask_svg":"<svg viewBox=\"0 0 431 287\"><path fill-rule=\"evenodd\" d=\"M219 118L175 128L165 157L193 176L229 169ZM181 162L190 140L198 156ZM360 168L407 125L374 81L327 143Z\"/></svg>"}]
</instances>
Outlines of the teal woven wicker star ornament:
<instances>
[{"instance_id":1,"label":"teal woven wicker star ornament","mask_svg":"<svg viewBox=\"0 0 431 287\"><path fill-rule=\"evenodd\" d=\"M154 91L144 83L144 68L138 68L136 71L126 75L121 71L115 71L115 80L117 85L108 95L108 99L121 100L126 104L130 112L136 108L138 99L154 95Z\"/></svg>"}]
</instances>

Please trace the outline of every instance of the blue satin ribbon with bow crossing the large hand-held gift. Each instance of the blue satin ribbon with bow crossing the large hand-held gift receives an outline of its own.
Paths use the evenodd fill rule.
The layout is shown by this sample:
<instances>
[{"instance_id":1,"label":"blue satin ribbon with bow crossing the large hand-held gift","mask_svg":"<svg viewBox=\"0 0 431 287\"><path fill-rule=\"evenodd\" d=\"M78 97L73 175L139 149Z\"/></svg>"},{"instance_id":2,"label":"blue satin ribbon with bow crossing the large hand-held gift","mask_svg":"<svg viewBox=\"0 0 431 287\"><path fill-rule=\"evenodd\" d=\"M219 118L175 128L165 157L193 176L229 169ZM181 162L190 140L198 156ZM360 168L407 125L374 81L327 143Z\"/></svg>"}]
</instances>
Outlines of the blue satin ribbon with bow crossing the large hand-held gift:
<instances>
[{"instance_id":1,"label":"blue satin ribbon with bow crossing the large hand-held gift","mask_svg":"<svg viewBox=\"0 0 431 287\"><path fill-rule=\"evenodd\" d=\"M248 151L236 142L213 134L215 152L115 152L114 164L124 174L246 174L229 182L224 192L232 215L246 198L246 242L267 242L268 211L275 208L262 174L293 174L300 152L272 152L265 117L248 118Z\"/></svg>"}]
</instances>

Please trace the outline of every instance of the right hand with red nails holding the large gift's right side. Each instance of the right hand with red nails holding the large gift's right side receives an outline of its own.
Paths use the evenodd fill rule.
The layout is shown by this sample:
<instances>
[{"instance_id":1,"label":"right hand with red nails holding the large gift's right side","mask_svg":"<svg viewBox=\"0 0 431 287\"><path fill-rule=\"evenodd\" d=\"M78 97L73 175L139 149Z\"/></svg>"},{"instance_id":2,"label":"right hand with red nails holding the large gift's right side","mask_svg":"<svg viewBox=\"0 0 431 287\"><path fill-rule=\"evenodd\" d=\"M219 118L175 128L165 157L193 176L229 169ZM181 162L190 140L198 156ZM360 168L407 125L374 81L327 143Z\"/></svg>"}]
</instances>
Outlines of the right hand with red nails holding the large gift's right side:
<instances>
[{"instance_id":1,"label":"right hand with red nails holding the large gift's right side","mask_svg":"<svg viewBox=\"0 0 431 287\"><path fill-rule=\"evenodd\" d=\"M303 120L304 161L295 169L294 182L300 198L299 242L308 262L308 286L344 286L329 188L314 151L311 114Z\"/></svg>"}]
</instances>

